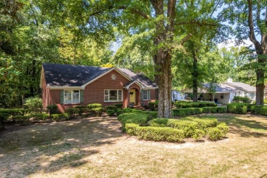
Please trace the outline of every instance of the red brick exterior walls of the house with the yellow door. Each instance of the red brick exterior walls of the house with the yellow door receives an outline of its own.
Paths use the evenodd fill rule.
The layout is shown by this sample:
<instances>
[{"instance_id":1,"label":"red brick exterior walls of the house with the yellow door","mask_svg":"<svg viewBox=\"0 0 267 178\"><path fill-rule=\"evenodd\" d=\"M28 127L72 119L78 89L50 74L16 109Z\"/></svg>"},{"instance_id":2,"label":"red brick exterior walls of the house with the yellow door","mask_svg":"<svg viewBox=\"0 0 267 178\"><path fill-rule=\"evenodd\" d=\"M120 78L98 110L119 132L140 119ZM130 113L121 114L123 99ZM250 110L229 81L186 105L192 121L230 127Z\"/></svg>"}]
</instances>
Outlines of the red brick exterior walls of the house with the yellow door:
<instances>
[{"instance_id":1,"label":"red brick exterior walls of the house with the yellow door","mask_svg":"<svg viewBox=\"0 0 267 178\"><path fill-rule=\"evenodd\" d=\"M112 75L116 75L116 79L112 79ZM129 105L129 90L136 89L136 104L140 105L145 103L148 105L149 101L141 101L140 87L137 84L133 84L129 87L129 90L123 88L129 80L120 75L117 71L111 71L101 78L88 84L84 89L84 103L78 105L88 105L90 103L101 103L104 107L107 105L114 105L116 103L123 103L123 107ZM119 102L105 102L104 90L123 90L123 101ZM77 104L60 104L60 90L49 90L47 88L45 80L43 80L42 86L42 99L44 108L47 105L58 105L59 112L64 112L68 107L75 107ZM155 90L151 90L151 100L155 100Z\"/></svg>"}]
</instances>

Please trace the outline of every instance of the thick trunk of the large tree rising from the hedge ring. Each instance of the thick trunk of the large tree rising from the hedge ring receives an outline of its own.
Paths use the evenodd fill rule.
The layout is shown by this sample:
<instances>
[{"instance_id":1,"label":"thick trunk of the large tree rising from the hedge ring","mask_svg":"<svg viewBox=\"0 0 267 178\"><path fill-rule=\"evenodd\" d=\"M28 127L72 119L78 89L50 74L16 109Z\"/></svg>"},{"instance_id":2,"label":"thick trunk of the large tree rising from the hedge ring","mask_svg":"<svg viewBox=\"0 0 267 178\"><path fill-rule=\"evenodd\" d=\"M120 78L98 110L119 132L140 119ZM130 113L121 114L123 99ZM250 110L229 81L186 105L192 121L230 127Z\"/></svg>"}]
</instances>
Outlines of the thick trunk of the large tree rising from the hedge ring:
<instances>
[{"instance_id":1,"label":"thick trunk of the large tree rising from the hedge ring","mask_svg":"<svg viewBox=\"0 0 267 178\"><path fill-rule=\"evenodd\" d=\"M151 4L155 9L155 16L162 18L164 16L164 1L151 0ZM176 0L168 1L168 23L162 20L156 24L154 45L157 47L155 52L155 81L157 81L158 89L158 114L160 118L171 118L171 90L172 90L172 75L171 75L171 47L173 41L174 19L175 19L175 4ZM162 45L163 44L163 45Z\"/></svg>"}]
</instances>

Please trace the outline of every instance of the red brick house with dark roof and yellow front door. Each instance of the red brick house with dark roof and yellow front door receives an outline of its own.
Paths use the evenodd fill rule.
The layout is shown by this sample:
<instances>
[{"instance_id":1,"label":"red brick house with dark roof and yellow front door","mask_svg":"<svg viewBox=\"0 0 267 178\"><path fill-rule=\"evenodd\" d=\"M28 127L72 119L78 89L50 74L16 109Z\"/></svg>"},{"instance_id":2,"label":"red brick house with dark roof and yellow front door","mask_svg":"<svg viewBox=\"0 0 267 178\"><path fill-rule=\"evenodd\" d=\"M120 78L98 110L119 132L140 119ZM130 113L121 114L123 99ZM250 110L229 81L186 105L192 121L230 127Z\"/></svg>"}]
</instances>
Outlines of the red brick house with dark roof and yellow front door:
<instances>
[{"instance_id":1,"label":"red brick house with dark roof and yellow front door","mask_svg":"<svg viewBox=\"0 0 267 178\"><path fill-rule=\"evenodd\" d=\"M127 107L155 100L157 86L148 77L126 68L43 64L42 104L56 104L60 112L75 105L123 103Z\"/></svg>"}]
</instances>

